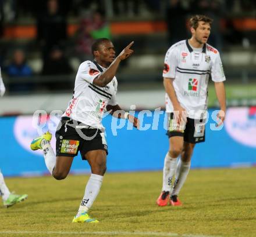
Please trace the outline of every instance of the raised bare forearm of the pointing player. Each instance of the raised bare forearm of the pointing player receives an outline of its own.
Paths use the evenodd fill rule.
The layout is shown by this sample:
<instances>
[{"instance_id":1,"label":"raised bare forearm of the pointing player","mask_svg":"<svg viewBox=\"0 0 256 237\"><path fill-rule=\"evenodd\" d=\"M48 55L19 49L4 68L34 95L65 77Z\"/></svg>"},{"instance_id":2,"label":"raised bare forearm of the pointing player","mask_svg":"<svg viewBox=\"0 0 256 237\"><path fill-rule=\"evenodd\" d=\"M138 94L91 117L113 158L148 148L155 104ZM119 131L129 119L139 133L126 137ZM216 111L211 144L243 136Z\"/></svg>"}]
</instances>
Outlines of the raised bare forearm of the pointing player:
<instances>
[{"instance_id":1,"label":"raised bare forearm of the pointing player","mask_svg":"<svg viewBox=\"0 0 256 237\"><path fill-rule=\"evenodd\" d=\"M108 69L94 79L94 85L100 87L108 85L108 83L111 82L113 77L116 75L116 71L118 70L120 61L121 60L119 59L119 57L116 57L116 59L111 63Z\"/></svg>"}]
</instances>

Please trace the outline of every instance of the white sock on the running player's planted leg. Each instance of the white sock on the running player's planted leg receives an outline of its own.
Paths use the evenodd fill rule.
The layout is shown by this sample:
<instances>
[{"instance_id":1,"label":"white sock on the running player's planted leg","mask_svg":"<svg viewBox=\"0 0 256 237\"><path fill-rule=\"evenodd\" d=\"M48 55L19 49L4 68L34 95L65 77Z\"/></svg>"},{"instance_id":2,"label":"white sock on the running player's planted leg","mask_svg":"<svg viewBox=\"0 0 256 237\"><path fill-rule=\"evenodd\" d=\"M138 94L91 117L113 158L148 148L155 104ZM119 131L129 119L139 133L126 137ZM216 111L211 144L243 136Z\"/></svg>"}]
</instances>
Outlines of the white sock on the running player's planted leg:
<instances>
[{"instance_id":1,"label":"white sock on the running player's planted leg","mask_svg":"<svg viewBox=\"0 0 256 237\"><path fill-rule=\"evenodd\" d=\"M83 212L88 212L90 207L93 205L93 202L99 193L99 189L101 188L102 180L103 176L98 174L91 174L87 182L86 191L84 192L84 197L81 201L77 216Z\"/></svg>"}]
</instances>

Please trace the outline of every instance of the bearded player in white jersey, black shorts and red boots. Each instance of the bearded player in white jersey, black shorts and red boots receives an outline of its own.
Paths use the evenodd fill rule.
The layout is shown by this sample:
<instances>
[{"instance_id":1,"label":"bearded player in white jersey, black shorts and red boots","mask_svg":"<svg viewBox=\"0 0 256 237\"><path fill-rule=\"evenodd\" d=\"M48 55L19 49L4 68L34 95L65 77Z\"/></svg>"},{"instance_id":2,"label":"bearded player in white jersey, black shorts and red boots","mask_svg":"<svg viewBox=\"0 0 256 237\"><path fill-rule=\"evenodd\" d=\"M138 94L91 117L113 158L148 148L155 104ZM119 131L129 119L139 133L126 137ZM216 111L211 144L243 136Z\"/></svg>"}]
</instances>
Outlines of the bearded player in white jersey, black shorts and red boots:
<instances>
[{"instance_id":1,"label":"bearded player in white jersey, black shorts and red boots","mask_svg":"<svg viewBox=\"0 0 256 237\"><path fill-rule=\"evenodd\" d=\"M169 151L163 166L162 192L158 206L180 206L177 198L189 174L196 143L205 141L204 119L207 112L207 88L211 75L221 107L218 126L225 119L225 75L218 50L207 44L212 20L195 15L190 19L191 38L172 45L165 56L163 85L168 113ZM177 158L180 156L179 163ZM172 187L172 178L176 176Z\"/></svg>"}]
</instances>

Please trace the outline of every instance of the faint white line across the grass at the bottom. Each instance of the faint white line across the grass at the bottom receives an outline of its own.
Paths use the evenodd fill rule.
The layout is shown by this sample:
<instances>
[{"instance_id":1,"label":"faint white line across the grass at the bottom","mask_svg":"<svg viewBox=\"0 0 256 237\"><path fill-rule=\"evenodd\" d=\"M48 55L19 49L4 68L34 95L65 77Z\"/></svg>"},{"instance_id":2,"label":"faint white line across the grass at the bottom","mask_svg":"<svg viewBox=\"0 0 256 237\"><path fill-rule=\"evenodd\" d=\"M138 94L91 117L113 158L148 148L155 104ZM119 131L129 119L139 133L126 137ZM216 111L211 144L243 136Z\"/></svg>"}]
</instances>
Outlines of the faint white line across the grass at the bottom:
<instances>
[{"instance_id":1,"label":"faint white line across the grass at the bottom","mask_svg":"<svg viewBox=\"0 0 256 237\"><path fill-rule=\"evenodd\" d=\"M192 235L192 234L176 234L170 232L128 232L128 231L0 231L0 234L57 234L57 235L143 235L143 236L166 236L166 237L221 237L213 235Z\"/></svg>"}]
</instances>

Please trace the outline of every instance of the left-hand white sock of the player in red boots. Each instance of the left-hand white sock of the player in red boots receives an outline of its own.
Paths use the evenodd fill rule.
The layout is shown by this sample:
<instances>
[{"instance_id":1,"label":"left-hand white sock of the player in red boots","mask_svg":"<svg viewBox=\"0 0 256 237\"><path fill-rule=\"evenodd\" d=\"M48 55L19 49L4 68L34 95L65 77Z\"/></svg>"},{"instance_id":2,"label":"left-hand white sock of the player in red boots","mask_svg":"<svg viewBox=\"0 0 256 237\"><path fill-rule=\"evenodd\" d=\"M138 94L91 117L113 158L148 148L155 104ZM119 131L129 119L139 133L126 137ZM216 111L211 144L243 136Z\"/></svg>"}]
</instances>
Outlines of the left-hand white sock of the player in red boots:
<instances>
[{"instance_id":1,"label":"left-hand white sock of the player in red boots","mask_svg":"<svg viewBox=\"0 0 256 237\"><path fill-rule=\"evenodd\" d=\"M170 157L169 152L165 156L165 162L163 165L163 187L162 191L169 191L172 187L172 178L175 174L177 167L177 158L173 159Z\"/></svg>"}]
</instances>

